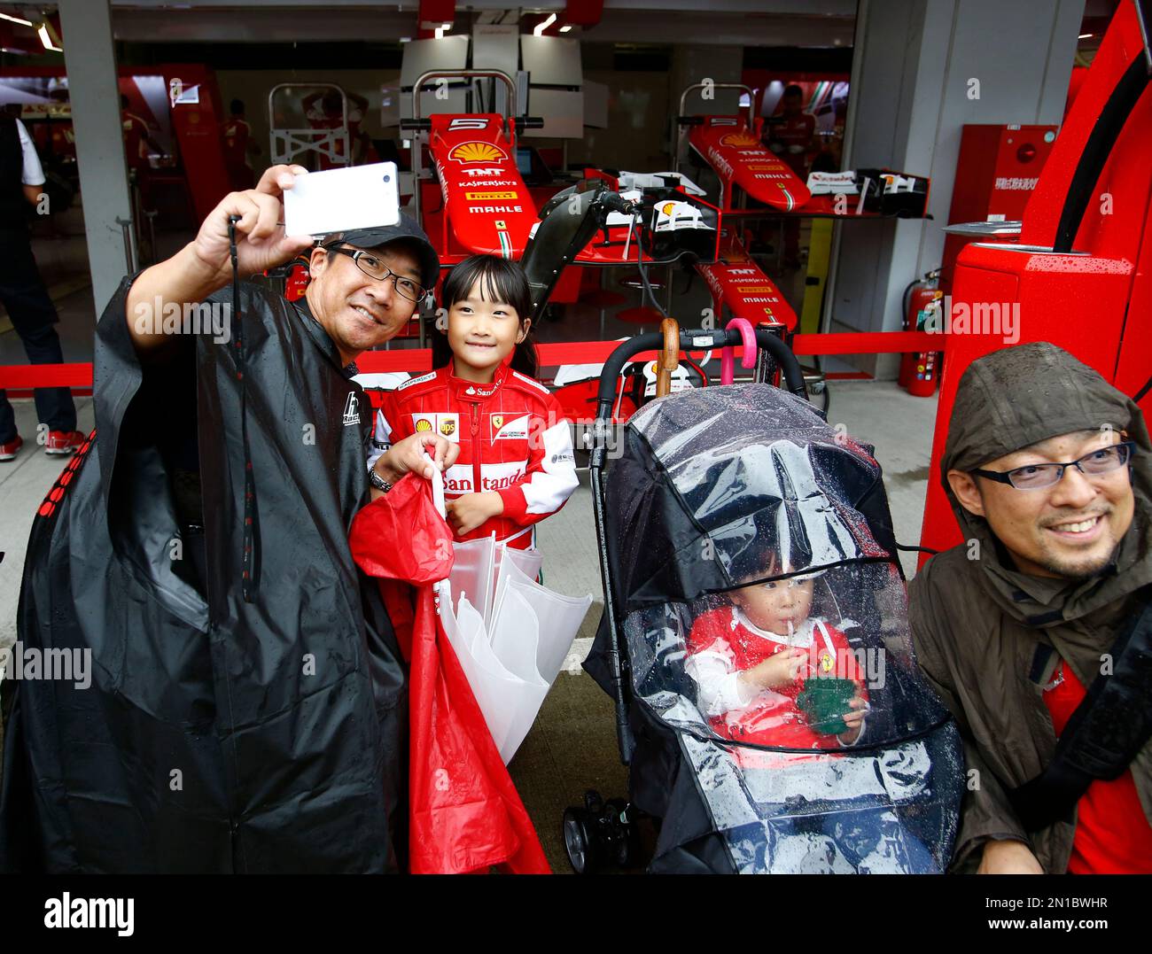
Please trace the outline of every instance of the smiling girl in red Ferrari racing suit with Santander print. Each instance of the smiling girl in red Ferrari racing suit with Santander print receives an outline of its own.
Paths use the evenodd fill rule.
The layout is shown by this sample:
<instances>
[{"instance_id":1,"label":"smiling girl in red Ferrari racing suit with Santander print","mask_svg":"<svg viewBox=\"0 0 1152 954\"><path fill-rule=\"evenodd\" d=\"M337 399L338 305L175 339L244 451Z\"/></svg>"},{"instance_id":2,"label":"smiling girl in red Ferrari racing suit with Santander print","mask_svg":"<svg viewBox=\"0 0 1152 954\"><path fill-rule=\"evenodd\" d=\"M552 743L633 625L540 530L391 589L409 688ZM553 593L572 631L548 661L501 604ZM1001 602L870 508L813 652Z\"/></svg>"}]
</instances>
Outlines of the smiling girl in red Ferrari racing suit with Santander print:
<instances>
[{"instance_id":1,"label":"smiling girl in red Ferrari racing suit with Santander print","mask_svg":"<svg viewBox=\"0 0 1152 954\"><path fill-rule=\"evenodd\" d=\"M528 280L514 262L475 255L453 268L442 295L447 327L438 323L433 335L435 370L385 395L369 465L409 434L442 434L460 445L444 475L457 539L494 531L526 550L529 528L556 513L578 483L568 422L533 377Z\"/></svg>"}]
</instances>

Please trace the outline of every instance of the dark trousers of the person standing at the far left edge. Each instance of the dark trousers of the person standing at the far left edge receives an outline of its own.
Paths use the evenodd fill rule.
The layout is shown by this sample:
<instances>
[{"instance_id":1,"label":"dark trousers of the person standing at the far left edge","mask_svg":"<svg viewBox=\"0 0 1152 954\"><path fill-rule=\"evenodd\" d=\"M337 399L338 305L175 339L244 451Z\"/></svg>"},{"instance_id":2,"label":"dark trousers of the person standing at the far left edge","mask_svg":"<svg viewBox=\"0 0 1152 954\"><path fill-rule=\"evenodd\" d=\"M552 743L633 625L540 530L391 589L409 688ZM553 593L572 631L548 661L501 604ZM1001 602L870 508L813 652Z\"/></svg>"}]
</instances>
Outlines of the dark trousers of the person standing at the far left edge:
<instances>
[{"instance_id":1,"label":"dark trousers of the person standing at the far left edge","mask_svg":"<svg viewBox=\"0 0 1152 954\"><path fill-rule=\"evenodd\" d=\"M60 320L55 305L36 267L28 229L0 228L0 302L8 310L12 325L24 342L32 364L61 364ZM75 431L76 406L67 387L36 389L36 416L50 431ZM12 404L0 389L0 444L16 437L16 419Z\"/></svg>"}]
</instances>

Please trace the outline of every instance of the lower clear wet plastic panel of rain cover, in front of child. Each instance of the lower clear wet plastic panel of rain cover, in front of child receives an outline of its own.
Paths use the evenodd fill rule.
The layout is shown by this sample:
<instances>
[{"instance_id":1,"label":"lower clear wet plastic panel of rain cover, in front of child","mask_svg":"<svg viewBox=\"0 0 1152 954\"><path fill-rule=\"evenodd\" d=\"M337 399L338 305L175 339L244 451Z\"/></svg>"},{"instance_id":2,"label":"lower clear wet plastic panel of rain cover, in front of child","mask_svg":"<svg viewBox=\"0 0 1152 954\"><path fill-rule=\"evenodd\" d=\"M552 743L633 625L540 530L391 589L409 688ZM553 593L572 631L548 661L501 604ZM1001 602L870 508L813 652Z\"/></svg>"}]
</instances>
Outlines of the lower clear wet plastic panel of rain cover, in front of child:
<instances>
[{"instance_id":1,"label":"lower clear wet plastic panel of rain cover, in front of child","mask_svg":"<svg viewBox=\"0 0 1152 954\"><path fill-rule=\"evenodd\" d=\"M757 616L764 606L736 605L755 598L738 591L631 614L624 630L635 689L679 730L737 869L942 871L963 763L955 728L912 668L895 568L839 567L796 589L809 586L811 615L793 621L791 631ZM746 694L717 688L735 687L794 649L795 677ZM847 706L818 712L803 705L805 690L838 680L864 701L855 736L820 721L844 716Z\"/></svg>"}]
</instances>

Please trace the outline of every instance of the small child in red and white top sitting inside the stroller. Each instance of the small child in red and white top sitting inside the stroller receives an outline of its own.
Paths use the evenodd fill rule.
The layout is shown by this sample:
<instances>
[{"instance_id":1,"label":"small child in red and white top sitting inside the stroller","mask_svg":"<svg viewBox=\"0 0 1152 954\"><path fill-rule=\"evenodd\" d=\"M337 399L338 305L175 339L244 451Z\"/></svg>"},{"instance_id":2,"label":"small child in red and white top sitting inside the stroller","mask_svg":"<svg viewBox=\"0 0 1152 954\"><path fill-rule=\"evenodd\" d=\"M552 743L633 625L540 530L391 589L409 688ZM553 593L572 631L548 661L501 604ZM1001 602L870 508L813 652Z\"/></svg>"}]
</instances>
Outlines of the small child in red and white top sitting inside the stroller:
<instances>
[{"instance_id":1,"label":"small child in red and white top sitting inside the stroller","mask_svg":"<svg viewBox=\"0 0 1152 954\"><path fill-rule=\"evenodd\" d=\"M735 842L770 872L939 873L892 805L925 792L923 747L850 759L832 754L864 736L869 694L848 637L811 615L817 581L828 573L786 575L790 567L771 550L758 562L764 569L742 574L746 585L696 616L685 641L684 669L712 729L770 749L732 752L766 823L746 826L744 839L734 832ZM797 751L805 749L823 754Z\"/></svg>"}]
</instances>

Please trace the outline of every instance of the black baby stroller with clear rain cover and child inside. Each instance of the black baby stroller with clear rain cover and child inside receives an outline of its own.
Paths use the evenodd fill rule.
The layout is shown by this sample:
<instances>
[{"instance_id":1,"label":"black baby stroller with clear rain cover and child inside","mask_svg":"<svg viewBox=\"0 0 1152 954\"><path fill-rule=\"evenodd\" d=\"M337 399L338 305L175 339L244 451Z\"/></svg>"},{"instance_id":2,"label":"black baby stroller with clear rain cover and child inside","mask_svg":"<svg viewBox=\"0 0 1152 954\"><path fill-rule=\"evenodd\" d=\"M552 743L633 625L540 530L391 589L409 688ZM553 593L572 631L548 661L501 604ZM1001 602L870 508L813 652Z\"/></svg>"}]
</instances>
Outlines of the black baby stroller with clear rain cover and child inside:
<instances>
[{"instance_id":1,"label":"black baby stroller with clear rain cover and child inside","mask_svg":"<svg viewBox=\"0 0 1152 954\"><path fill-rule=\"evenodd\" d=\"M738 343L735 331L684 331L682 347L705 336ZM765 332L757 344L787 391L673 394L613 444L615 376L659 344L624 342L600 379L591 474L605 612L584 667L615 699L630 801L589 793L566 812L574 869L624 862L643 812L658 824L651 872L943 871L962 749L916 669L871 448L806 402L795 356ZM776 588L810 600L803 619L789 604L787 628L757 623L745 598ZM814 665L791 689L743 686L726 705L733 673L776 643ZM864 718L846 730L852 707Z\"/></svg>"}]
</instances>

